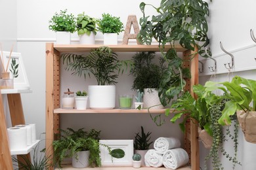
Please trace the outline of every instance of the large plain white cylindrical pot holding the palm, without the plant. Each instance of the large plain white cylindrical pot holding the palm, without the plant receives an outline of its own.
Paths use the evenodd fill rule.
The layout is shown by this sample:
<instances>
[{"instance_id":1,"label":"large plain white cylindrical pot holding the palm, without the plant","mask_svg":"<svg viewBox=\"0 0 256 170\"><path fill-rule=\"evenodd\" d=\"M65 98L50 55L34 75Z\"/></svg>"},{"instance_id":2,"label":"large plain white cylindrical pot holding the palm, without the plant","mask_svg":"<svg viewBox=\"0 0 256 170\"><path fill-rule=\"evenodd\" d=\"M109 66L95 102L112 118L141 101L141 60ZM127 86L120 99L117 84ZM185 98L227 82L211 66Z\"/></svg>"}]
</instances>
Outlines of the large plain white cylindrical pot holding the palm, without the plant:
<instances>
[{"instance_id":1,"label":"large plain white cylindrical pot holding the palm, without the plant","mask_svg":"<svg viewBox=\"0 0 256 170\"><path fill-rule=\"evenodd\" d=\"M91 109L114 109L116 106L116 86L89 86L89 106Z\"/></svg>"}]
</instances>

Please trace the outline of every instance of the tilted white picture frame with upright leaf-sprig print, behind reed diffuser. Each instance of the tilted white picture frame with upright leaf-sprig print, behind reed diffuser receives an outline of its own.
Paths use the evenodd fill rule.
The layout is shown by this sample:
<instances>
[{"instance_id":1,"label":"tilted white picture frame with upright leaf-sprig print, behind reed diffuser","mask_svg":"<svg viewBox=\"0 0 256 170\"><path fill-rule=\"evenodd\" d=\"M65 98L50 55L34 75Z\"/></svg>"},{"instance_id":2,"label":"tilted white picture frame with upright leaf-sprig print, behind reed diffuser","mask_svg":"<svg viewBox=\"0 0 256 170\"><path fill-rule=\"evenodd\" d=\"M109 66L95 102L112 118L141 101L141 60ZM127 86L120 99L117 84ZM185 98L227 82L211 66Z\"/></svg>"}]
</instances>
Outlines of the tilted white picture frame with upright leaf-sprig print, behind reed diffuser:
<instances>
[{"instance_id":1,"label":"tilted white picture frame with upright leaf-sprig print, behind reed diffuser","mask_svg":"<svg viewBox=\"0 0 256 170\"><path fill-rule=\"evenodd\" d=\"M9 56L10 56L10 52L3 52L3 64L5 66L5 69L7 68ZM18 68L17 68L18 76L16 76L16 77L14 77L11 73L12 59L15 59L16 64L18 64ZM3 68L2 68L2 71L3 71ZM10 75L13 78L14 89L22 89L22 90L30 89L30 83L28 82L28 76L26 74L26 69L24 67L21 53L12 52L7 71L11 73Z\"/></svg>"}]
</instances>

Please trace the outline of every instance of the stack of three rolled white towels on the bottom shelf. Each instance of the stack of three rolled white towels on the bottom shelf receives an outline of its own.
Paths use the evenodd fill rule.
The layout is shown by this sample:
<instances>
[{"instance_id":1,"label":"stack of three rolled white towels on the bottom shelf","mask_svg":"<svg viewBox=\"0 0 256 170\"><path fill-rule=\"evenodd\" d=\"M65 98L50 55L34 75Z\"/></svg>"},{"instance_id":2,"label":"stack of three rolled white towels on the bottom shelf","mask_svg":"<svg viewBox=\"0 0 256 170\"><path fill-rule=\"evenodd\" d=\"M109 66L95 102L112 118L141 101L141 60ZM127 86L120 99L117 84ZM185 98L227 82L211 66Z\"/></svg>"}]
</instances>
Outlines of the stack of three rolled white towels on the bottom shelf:
<instances>
[{"instance_id":1,"label":"stack of three rolled white towels on the bottom shelf","mask_svg":"<svg viewBox=\"0 0 256 170\"><path fill-rule=\"evenodd\" d=\"M154 149L145 154L145 164L148 167L177 169L189 161L188 153L180 148L181 142L174 137L160 137L154 142Z\"/></svg>"}]
</instances>

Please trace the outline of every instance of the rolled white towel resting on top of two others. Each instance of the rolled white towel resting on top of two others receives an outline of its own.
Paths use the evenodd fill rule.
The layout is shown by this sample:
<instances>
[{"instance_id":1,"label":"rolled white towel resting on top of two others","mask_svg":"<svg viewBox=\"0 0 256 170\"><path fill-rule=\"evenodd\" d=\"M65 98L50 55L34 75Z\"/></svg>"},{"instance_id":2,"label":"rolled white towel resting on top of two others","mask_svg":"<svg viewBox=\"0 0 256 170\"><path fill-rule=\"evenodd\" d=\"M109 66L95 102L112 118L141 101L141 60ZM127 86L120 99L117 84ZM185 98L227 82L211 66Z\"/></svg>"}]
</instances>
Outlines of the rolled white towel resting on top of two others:
<instances>
[{"instance_id":1,"label":"rolled white towel resting on top of two others","mask_svg":"<svg viewBox=\"0 0 256 170\"><path fill-rule=\"evenodd\" d=\"M181 147L181 142L174 137L159 137L154 142L154 149L162 154L171 148L179 147Z\"/></svg>"}]
</instances>

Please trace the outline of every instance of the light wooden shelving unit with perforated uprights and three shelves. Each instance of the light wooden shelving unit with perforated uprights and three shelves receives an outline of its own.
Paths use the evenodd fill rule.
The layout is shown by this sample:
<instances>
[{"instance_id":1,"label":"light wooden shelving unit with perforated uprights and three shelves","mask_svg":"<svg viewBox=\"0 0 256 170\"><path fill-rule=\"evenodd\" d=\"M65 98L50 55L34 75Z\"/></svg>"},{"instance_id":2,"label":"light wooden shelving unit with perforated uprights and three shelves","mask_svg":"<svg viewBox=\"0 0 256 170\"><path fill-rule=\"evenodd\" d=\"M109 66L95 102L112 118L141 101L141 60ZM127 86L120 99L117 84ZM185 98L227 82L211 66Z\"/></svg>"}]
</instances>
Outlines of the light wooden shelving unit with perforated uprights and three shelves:
<instances>
[{"instance_id":1,"label":"light wooden shelving unit with perforated uprights and three shelves","mask_svg":"<svg viewBox=\"0 0 256 170\"><path fill-rule=\"evenodd\" d=\"M94 45L82 45L82 44L53 44L46 43L46 148L47 154L53 154L53 140L54 133L58 133L60 114L86 114L86 113L134 113L134 114L146 114L148 110L66 110L60 108L60 53L62 52L89 52L91 49L104 46L102 44ZM106 45L105 45L106 46ZM142 52L142 51L160 51L158 45L108 45L114 52ZM165 51L169 47L165 46ZM187 80L186 90L189 90L192 95L192 86L198 84L198 53L197 50L192 52L186 50L181 46L176 46L177 52L183 54L183 58L187 61L184 62L184 67L190 68L192 78ZM191 59L190 59L191 58ZM150 112L165 113L165 110L151 110ZM186 125L187 133L184 135L184 149L190 155L191 167L182 167L182 170L198 170L199 166L199 144L198 144L198 126L197 124L188 122ZM54 167L51 167L54 169ZM65 167L65 169L72 169L72 167ZM101 169L133 169L133 167L101 167L95 168ZM154 169L152 167L143 167L142 169ZM158 168L159 169L159 168ZM160 168L161 169L161 168Z\"/></svg>"}]
</instances>

